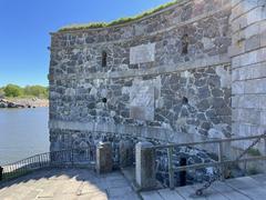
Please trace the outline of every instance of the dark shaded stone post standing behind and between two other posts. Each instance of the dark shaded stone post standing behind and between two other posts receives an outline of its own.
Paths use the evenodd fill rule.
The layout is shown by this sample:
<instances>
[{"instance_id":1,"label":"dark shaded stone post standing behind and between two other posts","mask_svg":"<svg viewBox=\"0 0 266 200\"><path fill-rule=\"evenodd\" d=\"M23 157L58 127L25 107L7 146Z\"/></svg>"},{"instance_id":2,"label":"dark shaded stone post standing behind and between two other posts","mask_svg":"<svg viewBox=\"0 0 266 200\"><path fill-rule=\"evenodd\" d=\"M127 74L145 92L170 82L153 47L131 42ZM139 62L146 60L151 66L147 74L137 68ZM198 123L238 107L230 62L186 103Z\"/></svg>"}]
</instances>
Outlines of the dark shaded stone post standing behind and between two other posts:
<instances>
[{"instance_id":1,"label":"dark shaded stone post standing behind and between two other posts","mask_svg":"<svg viewBox=\"0 0 266 200\"><path fill-rule=\"evenodd\" d=\"M120 167L125 168L133 164L133 142L131 140L120 141Z\"/></svg>"}]
</instances>

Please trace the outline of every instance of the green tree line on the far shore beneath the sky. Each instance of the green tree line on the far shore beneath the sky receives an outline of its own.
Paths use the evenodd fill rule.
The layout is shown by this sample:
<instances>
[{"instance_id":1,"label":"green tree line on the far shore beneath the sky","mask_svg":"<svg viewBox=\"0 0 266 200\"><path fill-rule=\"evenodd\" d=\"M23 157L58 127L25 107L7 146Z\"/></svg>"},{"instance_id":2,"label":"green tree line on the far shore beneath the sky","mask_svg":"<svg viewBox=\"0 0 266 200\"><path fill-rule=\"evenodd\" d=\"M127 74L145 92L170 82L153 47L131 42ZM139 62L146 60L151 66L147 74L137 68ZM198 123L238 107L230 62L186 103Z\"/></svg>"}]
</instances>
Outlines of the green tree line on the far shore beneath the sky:
<instances>
[{"instance_id":1,"label":"green tree line on the far shore beneath the sky","mask_svg":"<svg viewBox=\"0 0 266 200\"><path fill-rule=\"evenodd\" d=\"M17 84L7 84L0 88L0 98L48 98L48 87L27 86L24 88Z\"/></svg>"}]
</instances>

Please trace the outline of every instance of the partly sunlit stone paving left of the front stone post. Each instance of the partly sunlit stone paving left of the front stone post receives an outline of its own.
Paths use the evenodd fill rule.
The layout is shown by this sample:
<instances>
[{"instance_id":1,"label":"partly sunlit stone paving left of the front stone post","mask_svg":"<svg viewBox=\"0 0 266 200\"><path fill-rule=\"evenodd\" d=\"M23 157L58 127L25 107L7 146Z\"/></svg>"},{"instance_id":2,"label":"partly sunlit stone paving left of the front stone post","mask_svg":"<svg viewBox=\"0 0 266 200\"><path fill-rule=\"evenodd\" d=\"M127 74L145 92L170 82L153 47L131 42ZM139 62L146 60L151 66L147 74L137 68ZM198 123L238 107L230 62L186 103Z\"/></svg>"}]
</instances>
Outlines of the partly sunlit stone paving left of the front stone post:
<instances>
[{"instance_id":1,"label":"partly sunlit stone paving left of the front stone post","mask_svg":"<svg viewBox=\"0 0 266 200\"><path fill-rule=\"evenodd\" d=\"M139 200L120 172L99 176L89 169L35 171L0 184L0 200Z\"/></svg>"}]
</instances>

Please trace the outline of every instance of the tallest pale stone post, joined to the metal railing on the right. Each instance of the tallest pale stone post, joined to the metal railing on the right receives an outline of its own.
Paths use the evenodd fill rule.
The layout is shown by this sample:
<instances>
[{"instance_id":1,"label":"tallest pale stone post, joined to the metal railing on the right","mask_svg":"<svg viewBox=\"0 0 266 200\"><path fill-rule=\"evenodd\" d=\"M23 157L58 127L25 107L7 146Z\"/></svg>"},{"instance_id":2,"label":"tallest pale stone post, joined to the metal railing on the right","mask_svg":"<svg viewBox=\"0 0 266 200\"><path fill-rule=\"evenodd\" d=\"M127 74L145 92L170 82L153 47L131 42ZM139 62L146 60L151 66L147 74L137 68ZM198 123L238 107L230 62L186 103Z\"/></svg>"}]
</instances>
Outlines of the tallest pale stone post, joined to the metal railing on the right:
<instances>
[{"instance_id":1,"label":"tallest pale stone post, joined to the metal railing on the right","mask_svg":"<svg viewBox=\"0 0 266 200\"><path fill-rule=\"evenodd\" d=\"M135 146L135 176L140 189L152 189L156 186L155 151L151 142L139 142Z\"/></svg>"}]
</instances>

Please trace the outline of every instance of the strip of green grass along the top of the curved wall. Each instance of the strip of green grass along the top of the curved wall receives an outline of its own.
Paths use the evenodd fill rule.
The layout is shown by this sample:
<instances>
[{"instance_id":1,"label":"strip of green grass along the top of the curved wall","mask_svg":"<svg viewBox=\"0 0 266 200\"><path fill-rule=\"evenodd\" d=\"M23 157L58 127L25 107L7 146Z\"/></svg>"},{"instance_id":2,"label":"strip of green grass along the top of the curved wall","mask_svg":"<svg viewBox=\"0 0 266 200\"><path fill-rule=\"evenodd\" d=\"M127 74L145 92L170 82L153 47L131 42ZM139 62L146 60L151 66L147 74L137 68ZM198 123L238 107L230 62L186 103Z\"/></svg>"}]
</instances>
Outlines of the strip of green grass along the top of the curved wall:
<instances>
[{"instance_id":1,"label":"strip of green grass along the top of the curved wall","mask_svg":"<svg viewBox=\"0 0 266 200\"><path fill-rule=\"evenodd\" d=\"M177 3L178 1L180 0L174 0L174 1L167 2L165 4L161 4L154 9L147 10L141 14L129 17L129 18L120 18L120 19L116 19L111 22L91 22L91 23L81 23L81 24L70 24L70 26L60 28L59 31L62 32L62 31L69 31L69 30L83 30L83 29L104 28L104 27L112 27L112 26L116 26L116 24L123 24L126 22L139 20L139 19L150 16L152 13L155 13L162 9L165 9L167 7L171 7L175 3Z\"/></svg>"}]
</instances>

